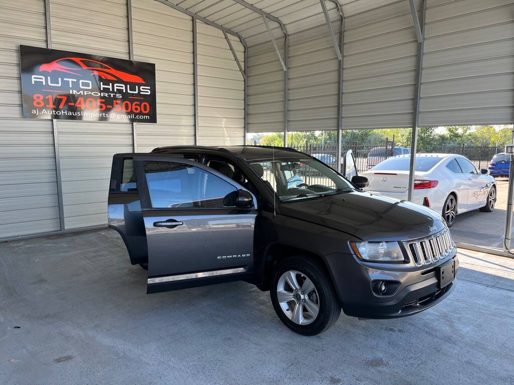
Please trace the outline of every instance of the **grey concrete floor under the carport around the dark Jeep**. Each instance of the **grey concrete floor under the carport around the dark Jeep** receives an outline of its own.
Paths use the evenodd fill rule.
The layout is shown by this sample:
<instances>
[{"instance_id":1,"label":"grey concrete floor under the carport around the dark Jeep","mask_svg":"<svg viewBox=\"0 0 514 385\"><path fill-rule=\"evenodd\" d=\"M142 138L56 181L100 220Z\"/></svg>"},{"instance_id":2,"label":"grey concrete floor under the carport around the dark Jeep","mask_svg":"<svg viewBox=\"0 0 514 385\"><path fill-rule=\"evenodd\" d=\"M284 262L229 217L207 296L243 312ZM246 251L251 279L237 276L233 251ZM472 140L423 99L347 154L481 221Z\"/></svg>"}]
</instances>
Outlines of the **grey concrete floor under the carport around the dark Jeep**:
<instances>
[{"instance_id":1,"label":"grey concrete floor under the carport around the dark Jeep","mask_svg":"<svg viewBox=\"0 0 514 385\"><path fill-rule=\"evenodd\" d=\"M0 244L0 383L514 382L514 259L461 253L416 316L290 332L244 282L145 295L112 230Z\"/></svg>"}]
</instances>

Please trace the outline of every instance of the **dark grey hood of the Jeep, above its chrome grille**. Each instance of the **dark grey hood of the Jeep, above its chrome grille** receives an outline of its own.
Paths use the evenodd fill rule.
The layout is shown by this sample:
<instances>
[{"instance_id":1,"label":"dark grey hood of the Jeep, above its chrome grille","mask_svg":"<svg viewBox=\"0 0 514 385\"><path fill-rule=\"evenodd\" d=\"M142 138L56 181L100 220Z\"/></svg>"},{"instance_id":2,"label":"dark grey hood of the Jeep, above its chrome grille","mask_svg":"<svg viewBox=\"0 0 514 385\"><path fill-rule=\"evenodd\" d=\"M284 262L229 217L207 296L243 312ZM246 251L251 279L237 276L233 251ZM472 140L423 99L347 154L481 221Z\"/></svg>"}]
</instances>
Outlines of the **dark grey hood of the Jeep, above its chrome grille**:
<instances>
[{"instance_id":1,"label":"dark grey hood of the Jeep, above its chrome grille","mask_svg":"<svg viewBox=\"0 0 514 385\"><path fill-rule=\"evenodd\" d=\"M364 241L405 241L445 227L440 215L429 208L358 191L283 203L280 213Z\"/></svg>"}]
</instances>

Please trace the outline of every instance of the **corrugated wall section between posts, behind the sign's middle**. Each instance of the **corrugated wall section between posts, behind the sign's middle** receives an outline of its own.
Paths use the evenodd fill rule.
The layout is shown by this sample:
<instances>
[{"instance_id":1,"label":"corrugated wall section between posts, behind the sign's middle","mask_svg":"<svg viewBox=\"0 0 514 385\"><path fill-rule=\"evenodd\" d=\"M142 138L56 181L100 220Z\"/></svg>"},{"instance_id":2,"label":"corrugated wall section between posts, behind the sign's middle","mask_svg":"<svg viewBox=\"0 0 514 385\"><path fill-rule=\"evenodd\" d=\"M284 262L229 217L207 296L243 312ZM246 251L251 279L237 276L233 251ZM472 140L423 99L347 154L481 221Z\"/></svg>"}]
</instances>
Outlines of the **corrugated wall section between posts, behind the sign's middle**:
<instances>
[{"instance_id":1,"label":"corrugated wall section between posts, behind the sign's middle","mask_svg":"<svg viewBox=\"0 0 514 385\"><path fill-rule=\"evenodd\" d=\"M52 48L128 59L124 0L51 0ZM66 229L107 223L112 156L132 152L132 125L61 120L59 155Z\"/></svg>"}]
</instances>

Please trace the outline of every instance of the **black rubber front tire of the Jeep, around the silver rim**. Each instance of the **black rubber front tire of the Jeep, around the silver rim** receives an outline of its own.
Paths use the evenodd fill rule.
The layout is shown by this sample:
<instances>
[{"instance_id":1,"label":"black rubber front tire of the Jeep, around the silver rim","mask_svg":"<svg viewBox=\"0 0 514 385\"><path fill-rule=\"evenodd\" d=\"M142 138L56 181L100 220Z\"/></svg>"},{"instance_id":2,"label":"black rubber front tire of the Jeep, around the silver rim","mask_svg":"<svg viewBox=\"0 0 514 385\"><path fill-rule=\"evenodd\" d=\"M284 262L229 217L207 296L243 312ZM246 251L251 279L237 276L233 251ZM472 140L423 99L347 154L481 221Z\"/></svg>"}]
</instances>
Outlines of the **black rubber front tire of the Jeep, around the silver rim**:
<instances>
[{"instance_id":1,"label":"black rubber front tire of the Jeep, around the silver rim","mask_svg":"<svg viewBox=\"0 0 514 385\"><path fill-rule=\"evenodd\" d=\"M315 298L317 299L319 310L317 316L313 317L314 320L309 324L302 325L294 322L292 319L289 319L279 303L277 293L279 280L282 275L288 271L301 272L299 277L306 277L314 284L315 292L313 291L311 294L316 293ZM273 307L280 320L293 332L297 332L305 336L314 336L324 332L337 321L341 314L339 299L337 298L332 280L324 266L315 260L301 256L289 257L277 263L274 267L273 276L271 278L270 295L271 302L273 303ZM292 298L292 305L296 307L297 305L295 302L296 300ZM305 302L305 300L303 300L303 302ZM288 306L287 303L286 307ZM305 306L306 305L307 304L305 304ZM300 309L304 309L303 306L304 305L302 304ZM307 307L305 307L305 309L307 309Z\"/></svg>"}]
</instances>

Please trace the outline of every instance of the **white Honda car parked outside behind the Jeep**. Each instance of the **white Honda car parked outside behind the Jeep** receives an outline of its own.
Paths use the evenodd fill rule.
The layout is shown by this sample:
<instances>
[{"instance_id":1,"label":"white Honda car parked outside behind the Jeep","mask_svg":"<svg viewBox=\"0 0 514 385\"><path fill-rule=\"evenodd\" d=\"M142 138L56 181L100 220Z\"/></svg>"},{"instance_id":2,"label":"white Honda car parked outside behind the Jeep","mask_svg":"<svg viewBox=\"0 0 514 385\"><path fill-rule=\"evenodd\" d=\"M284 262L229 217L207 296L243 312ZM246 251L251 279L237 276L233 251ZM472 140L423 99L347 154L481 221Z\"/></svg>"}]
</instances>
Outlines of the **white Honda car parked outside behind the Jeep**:
<instances>
[{"instance_id":1,"label":"white Honda car parked outside behind the Jeep","mask_svg":"<svg viewBox=\"0 0 514 385\"><path fill-rule=\"evenodd\" d=\"M361 175L370 184L366 191L407 200L410 155L389 158ZM490 213L496 202L496 184L487 170L477 170L460 155L416 155L414 203L440 213L448 226L457 214L479 208Z\"/></svg>"}]
</instances>

